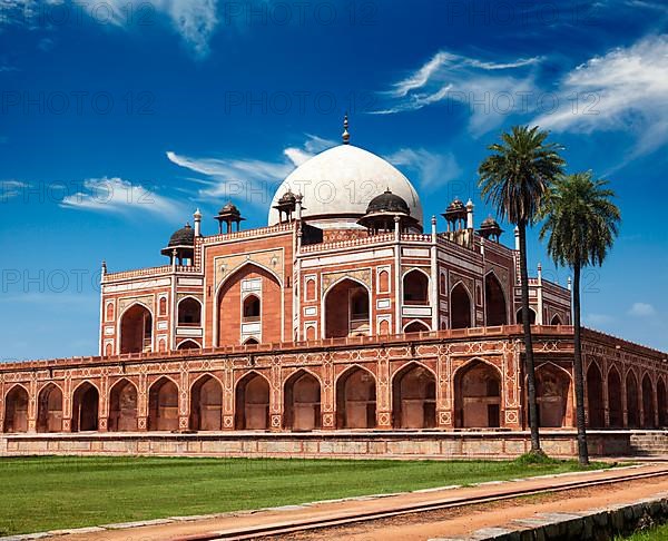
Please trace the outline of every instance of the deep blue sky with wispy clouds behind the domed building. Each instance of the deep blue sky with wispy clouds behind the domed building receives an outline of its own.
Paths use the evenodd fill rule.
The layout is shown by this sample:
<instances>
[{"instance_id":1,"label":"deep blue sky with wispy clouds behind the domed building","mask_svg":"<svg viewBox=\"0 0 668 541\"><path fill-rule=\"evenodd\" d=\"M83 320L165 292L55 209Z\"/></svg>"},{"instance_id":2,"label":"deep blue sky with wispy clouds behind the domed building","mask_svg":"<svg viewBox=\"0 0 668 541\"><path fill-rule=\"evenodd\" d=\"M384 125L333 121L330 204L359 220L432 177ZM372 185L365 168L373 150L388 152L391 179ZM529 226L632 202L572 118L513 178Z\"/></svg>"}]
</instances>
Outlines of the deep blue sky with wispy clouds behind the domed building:
<instances>
[{"instance_id":1,"label":"deep blue sky with wispy clouds behind the domed building","mask_svg":"<svg viewBox=\"0 0 668 541\"><path fill-rule=\"evenodd\" d=\"M487 146L550 129L623 216L584 274L586 324L668 351L668 8L512 4L0 0L0 358L97 353L102 259L164 264L196 207L213 233L230 198L264 225L272 187L340 140L345 110L426 216L472 197L478 222ZM566 283L533 234L539 262Z\"/></svg>"}]
</instances>

